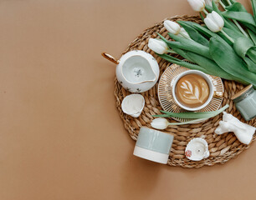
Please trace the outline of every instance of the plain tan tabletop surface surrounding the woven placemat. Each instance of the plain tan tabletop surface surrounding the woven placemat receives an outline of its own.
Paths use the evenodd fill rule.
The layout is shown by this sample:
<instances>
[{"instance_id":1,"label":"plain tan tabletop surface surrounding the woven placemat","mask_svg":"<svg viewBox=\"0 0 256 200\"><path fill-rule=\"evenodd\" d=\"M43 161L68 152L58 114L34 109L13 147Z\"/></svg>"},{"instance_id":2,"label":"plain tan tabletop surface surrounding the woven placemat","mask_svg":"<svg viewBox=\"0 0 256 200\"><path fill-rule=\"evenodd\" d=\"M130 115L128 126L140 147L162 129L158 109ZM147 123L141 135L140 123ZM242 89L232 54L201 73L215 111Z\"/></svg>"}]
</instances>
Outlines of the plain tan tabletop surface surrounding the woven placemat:
<instances>
[{"instance_id":1,"label":"plain tan tabletop surface surrounding the woven placemat","mask_svg":"<svg viewBox=\"0 0 256 200\"><path fill-rule=\"evenodd\" d=\"M185 0L1 0L0 199L255 199L255 144L210 168L151 163L132 156L115 108L100 52L120 57L192 13Z\"/></svg>"}]
</instances>

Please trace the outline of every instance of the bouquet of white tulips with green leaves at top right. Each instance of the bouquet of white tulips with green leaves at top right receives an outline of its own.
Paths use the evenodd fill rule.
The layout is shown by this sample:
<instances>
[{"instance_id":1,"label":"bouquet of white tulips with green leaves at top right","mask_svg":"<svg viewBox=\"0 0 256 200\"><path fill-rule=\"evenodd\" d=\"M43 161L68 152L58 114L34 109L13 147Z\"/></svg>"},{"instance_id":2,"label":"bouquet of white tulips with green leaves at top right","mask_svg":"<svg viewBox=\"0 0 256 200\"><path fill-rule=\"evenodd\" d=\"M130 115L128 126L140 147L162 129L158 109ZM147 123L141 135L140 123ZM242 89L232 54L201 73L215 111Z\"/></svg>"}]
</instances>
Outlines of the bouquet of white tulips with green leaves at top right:
<instances>
[{"instance_id":1,"label":"bouquet of white tulips with green leaves at top right","mask_svg":"<svg viewBox=\"0 0 256 200\"><path fill-rule=\"evenodd\" d=\"M256 87L256 0L251 0L253 15L234 0L187 2L206 26L166 20L173 41L159 34L161 39L151 38L148 47L166 61Z\"/></svg>"}]
</instances>

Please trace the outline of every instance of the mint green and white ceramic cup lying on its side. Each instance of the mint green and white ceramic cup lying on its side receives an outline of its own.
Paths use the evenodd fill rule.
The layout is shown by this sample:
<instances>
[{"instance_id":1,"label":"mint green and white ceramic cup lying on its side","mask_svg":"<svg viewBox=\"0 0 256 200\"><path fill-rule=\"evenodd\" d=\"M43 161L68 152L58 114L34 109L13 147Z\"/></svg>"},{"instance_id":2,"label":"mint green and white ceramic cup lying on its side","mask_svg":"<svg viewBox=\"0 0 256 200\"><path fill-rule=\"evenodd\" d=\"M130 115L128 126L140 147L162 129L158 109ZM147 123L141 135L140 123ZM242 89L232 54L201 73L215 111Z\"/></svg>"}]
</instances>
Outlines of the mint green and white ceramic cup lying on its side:
<instances>
[{"instance_id":1,"label":"mint green and white ceramic cup lying on its side","mask_svg":"<svg viewBox=\"0 0 256 200\"><path fill-rule=\"evenodd\" d=\"M133 154L136 157L166 164L172 148L173 138L171 134L142 127Z\"/></svg>"}]
</instances>

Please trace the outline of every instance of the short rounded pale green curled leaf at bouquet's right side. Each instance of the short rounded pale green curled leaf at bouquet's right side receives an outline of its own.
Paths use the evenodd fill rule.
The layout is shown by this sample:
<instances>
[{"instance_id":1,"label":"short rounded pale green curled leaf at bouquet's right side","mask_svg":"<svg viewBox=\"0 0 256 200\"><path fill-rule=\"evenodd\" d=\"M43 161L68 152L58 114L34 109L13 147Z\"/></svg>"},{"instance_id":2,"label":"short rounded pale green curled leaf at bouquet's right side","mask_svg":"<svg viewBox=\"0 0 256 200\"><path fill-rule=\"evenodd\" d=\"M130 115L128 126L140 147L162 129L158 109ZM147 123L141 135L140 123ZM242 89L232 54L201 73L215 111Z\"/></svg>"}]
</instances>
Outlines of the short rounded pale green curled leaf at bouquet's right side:
<instances>
[{"instance_id":1,"label":"short rounded pale green curled leaf at bouquet's right side","mask_svg":"<svg viewBox=\"0 0 256 200\"><path fill-rule=\"evenodd\" d=\"M248 39L248 37L238 37L233 42L233 49L238 53L240 57L245 57L248 49L254 46L254 43Z\"/></svg>"}]
</instances>

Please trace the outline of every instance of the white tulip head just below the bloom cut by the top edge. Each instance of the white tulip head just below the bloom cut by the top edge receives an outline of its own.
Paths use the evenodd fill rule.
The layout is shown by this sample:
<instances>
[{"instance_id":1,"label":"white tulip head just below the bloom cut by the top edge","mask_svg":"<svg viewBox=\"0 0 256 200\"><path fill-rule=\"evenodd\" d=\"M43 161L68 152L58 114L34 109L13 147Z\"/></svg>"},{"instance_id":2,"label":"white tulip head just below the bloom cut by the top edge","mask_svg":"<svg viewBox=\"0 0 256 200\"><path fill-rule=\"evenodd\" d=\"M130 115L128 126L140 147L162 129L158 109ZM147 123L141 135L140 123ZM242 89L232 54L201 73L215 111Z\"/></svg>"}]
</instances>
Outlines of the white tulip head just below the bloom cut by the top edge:
<instances>
[{"instance_id":1,"label":"white tulip head just below the bloom cut by the top edge","mask_svg":"<svg viewBox=\"0 0 256 200\"><path fill-rule=\"evenodd\" d=\"M221 30L223 30L224 20L215 11L207 14L207 18L204 19L204 23L207 25L207 28L209 28L212 32L220 32Z\"/></svg>"}]
</instances>

